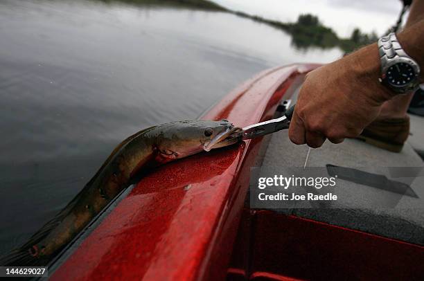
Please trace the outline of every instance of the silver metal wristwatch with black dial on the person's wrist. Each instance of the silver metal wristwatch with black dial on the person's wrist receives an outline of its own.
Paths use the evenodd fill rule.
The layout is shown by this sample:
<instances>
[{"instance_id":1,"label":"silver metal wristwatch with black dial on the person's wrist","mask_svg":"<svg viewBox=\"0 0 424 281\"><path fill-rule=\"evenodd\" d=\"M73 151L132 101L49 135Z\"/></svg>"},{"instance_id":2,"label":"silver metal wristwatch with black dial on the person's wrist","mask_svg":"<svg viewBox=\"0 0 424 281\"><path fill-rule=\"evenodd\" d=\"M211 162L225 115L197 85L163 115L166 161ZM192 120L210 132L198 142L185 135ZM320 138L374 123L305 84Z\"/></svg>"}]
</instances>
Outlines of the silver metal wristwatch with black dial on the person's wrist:
<instances>
[{"instance_id":1,"label":"silver metal wristwatch with black dial on the person's wrist","mask_svg":"<svg viewBox=\"0 0 424 281\"><path fill-rule=\"evenodd\" d=\"M382 84L395 93L409 93L418 89L420 66L405 53L396 34L381 37L378 40L378 52Z\"/></svg>"}]
</instances>

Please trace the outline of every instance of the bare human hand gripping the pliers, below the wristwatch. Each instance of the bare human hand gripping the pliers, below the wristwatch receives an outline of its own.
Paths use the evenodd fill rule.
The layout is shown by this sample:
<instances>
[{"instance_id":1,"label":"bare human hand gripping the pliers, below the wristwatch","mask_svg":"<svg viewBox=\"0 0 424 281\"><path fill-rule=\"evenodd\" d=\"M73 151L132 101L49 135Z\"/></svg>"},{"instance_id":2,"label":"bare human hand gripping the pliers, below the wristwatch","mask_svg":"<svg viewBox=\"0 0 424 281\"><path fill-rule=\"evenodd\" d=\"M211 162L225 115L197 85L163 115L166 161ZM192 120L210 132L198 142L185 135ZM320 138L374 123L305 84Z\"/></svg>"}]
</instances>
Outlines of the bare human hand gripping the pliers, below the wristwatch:
<instances>
[{"instance_id":1,"label":"bare human hand gripping the pliers, below the wristwatch","mask_svg":"<svg viewBox=\"0 0 424 281\"><path fill-rule=\"evenodd\" d=\"M379 76L376 44L308 73L290 122L290 140L321 147L326 138L341 143L359 136L394 96Z\"/></svg>"}]
</instances>

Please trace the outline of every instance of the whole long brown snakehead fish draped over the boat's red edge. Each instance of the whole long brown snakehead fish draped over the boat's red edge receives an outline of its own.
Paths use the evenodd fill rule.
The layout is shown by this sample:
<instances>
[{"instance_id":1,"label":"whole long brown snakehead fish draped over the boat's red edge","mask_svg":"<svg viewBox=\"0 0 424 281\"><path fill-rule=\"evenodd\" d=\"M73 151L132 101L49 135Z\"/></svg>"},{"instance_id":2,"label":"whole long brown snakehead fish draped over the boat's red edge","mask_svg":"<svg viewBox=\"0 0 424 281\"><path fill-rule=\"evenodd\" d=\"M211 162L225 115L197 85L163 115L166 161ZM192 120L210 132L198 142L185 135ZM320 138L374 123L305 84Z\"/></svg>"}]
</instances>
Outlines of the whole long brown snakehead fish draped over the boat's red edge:
<instances>
[{"instance_id":1,"label":"whole long brown snakehead fish draped over the boat's red edge","mask_svg":"<svg viewBox=\"0 0 424 281\"><path fill-rule=\"evenodd\" d=\"M94 177L56 217L0 265L45 266L124 188L134 174L193 154L232 145L240 128L227 120L179 121L144 129L120 143Z\"/></svg>"}]
</instances>

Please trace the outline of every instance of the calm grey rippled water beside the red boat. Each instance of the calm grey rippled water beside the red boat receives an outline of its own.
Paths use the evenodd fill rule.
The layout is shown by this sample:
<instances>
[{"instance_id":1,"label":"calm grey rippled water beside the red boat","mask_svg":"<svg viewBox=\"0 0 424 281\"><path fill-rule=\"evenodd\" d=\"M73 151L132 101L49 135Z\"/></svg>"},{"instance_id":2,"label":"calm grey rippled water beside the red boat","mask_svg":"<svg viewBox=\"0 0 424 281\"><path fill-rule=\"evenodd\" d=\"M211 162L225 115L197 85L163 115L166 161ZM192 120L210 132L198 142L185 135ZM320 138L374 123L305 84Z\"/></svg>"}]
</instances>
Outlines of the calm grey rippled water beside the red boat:
<instances>
[{"instance_id":1,"label":"calm grey rippled water beside the red boat","mask_svg":"<svg viewBox=\"0 0 424 281\"><path fill-rule=\"evenodd\" d=\"M101 1L0 2L0 255L89 181L126 136L197 118L268 67L329 62L224 12Z\"/></svg>"}]
</instances>

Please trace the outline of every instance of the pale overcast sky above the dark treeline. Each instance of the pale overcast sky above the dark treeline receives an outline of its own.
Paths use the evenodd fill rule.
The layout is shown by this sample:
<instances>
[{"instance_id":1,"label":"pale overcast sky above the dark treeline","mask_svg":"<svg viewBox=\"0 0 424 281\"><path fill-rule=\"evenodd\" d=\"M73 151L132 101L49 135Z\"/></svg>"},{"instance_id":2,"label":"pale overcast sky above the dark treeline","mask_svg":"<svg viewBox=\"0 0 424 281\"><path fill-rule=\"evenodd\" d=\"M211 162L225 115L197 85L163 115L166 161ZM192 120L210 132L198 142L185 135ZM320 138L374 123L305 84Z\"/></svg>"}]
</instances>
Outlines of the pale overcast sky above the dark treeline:
<instances>
[{"instance_id":1,"label":"pale overcast sky above the dark treeline","mask_svg":"<svg viewBox=\"0 0 424 281\"><path fill-rule=\"evenodd\" d=\"M333 28L337 35L351 35L359 27L378 35L393 26L398 19L400 0L213 0L220 5L251 15L280 21L296 21L300 14L317 15L321 22ZM406 19L406 17L405 17Z\"/></svg>"}]
</instances>

